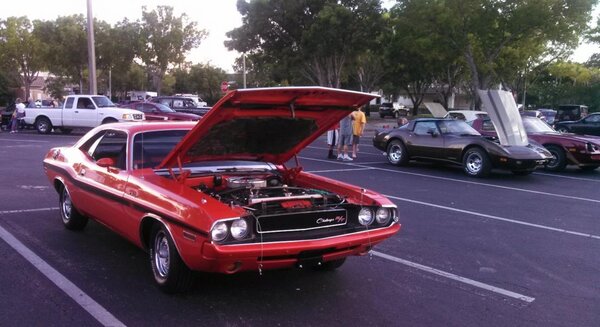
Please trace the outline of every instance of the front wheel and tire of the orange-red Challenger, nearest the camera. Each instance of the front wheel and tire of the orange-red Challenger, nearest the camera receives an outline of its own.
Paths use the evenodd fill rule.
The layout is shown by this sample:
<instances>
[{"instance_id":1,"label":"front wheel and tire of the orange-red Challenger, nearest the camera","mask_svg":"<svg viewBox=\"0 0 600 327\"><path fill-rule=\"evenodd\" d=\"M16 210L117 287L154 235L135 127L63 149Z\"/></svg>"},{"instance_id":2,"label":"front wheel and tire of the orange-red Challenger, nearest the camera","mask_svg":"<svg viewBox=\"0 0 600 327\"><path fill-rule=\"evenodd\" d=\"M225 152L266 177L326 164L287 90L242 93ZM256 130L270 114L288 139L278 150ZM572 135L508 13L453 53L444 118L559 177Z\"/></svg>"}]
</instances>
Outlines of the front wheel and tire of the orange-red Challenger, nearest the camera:
<instances>
[{"instance_id":1,"label":"front wheel and tire of the orange-red Challenger, nearest the camera","mask_svg":"<svg viewBox=\"0 0 600 327\"><path fill-rule=\"evenodd\" d=\"M185 265L169 232L154 224L150 234L150 267L158 288L165 293L182 293L192 285L192 271Z\"/></svg>"}]
</instances>

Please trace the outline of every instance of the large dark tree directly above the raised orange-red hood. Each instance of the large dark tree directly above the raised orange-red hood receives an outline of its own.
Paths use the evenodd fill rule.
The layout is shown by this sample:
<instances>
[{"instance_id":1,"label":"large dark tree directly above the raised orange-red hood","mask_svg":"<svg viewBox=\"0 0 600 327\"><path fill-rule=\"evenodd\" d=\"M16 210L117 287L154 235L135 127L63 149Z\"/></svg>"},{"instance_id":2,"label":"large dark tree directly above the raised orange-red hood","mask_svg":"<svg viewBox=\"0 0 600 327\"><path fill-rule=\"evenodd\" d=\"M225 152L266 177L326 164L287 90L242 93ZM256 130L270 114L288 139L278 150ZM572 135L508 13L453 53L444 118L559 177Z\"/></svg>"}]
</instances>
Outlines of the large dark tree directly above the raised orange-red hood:
<instances>
[{"instance_id":1,"label":"large dark tree directly above the raised orange-red hood","mask_svg":"<svg viewBox=\"0 0 600 327\"><path fill-rule=\"evenodd\" d=\"M278 84L340 87L381 29L378 0L238 0L237 7L243 24L225 45Z\"/></svg>"}]
</instances>

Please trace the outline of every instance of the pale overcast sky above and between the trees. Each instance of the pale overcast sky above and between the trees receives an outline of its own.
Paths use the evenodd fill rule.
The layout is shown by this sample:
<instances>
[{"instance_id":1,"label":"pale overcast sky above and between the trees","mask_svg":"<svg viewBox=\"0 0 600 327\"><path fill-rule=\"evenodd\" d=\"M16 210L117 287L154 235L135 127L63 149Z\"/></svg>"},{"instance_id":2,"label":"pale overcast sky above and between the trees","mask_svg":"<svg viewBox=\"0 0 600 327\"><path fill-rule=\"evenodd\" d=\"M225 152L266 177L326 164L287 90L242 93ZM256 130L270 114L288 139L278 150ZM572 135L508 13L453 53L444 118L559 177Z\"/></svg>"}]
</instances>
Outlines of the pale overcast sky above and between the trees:
<instances>
[{"instance_id":1,"label":"pale overcast sky above and between the trees","mask_svg":"<svg viewBox=\"0 0 600 327\"><path fill-rule=\"evenodd\" d=\"M384 0L387 6L394 1ZM242 24L235 6L236 0L92 0L93 13L97 19L114 24L123 18L141 19L142 6L148 10L158 5L174 8L175 14L186 13L196 21L199 28L209 32L209 36L199 48L190 52L188 59L193 63L210 63L227 72L232 72L235 58L239 54L227 51L223 45L225 33ZM10 16L27 16L29 19L54 20L58 16L72 14L87 15L87 0L4 0L0 7L0 19ZM593 22L600 16L600 6L596 8ZM590 22L591 25L592 22ZM600 53L599 45L582 45L572 59L584 62L594 53Z\"/></svg>"}]
</instances>

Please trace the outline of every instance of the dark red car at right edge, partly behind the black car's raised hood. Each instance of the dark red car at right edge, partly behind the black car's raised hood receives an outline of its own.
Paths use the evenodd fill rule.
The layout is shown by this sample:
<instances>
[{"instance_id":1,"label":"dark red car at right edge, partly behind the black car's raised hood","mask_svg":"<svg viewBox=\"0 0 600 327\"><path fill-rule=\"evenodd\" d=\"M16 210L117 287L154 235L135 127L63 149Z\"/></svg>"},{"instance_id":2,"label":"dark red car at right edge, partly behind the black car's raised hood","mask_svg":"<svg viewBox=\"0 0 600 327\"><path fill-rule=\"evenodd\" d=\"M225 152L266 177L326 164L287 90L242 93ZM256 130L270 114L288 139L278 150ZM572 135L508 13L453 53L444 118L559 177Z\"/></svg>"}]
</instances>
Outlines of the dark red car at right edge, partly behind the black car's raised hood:
<instances>
[{"instance_id":1,"label":"dark red car at right edge, partly behind the black car's raised hood","mask_svg":"<svg viewBox=\"0 0 600 327\"><path fill-rule=\"evenodd\" d=\"M562 171L567 165L576 165L582 170L600 167L600 137L558 133L544 121L535 117L522 117L527 137L543 145L552 159L544 167L550 171ZM490 119L477 119L473 128L483 135L496 136Z\"/></svg>"}]
</instances>

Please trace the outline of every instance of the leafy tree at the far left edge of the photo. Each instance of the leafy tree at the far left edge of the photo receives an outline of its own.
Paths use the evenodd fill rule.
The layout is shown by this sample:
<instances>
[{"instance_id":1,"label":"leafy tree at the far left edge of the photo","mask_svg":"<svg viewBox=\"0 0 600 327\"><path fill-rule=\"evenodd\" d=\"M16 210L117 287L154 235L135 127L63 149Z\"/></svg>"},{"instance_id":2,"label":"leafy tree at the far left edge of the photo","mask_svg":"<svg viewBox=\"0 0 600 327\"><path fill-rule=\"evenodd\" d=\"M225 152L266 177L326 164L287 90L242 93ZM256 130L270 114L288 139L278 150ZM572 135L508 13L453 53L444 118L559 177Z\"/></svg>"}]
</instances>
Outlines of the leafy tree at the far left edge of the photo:
<instances>
[{"instance_id":1,"label":"leafy tree at the far left edge of the photo","mask_svg":"<svg viewBox=\"0 0 600 327\"><path fill-rule=\"evenodd\" d=\"M33 25L27 17L9 17L0 22L0 64L8 76L25 88L26 97L31 84L45 68L46 51L46 44L33 33Z\"/></svg>"}]
</instances>

